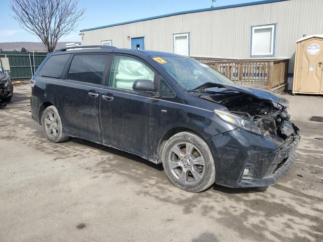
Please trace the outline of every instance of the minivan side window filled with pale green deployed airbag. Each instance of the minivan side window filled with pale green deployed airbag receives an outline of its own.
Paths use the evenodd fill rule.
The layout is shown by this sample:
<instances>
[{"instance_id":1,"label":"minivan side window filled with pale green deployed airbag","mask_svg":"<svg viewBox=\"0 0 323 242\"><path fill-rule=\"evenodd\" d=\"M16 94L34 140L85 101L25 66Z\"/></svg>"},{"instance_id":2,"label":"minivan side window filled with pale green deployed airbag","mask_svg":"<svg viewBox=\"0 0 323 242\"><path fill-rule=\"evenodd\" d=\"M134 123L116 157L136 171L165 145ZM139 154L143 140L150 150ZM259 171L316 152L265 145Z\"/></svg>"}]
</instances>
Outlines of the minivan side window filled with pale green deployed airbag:
<instances>
[{"instance_id":1,"label":"minivan side window filled with pale green deployed airbag","mask_svg":"<svg viewBox=\"0 0 323 242\"><path fill-rule=\"evenodd\" d=\"M155 73L138 59L116 55L110 73L110 86L132 90L136 80L153 82Z\"/></svg>"}]
</instances>

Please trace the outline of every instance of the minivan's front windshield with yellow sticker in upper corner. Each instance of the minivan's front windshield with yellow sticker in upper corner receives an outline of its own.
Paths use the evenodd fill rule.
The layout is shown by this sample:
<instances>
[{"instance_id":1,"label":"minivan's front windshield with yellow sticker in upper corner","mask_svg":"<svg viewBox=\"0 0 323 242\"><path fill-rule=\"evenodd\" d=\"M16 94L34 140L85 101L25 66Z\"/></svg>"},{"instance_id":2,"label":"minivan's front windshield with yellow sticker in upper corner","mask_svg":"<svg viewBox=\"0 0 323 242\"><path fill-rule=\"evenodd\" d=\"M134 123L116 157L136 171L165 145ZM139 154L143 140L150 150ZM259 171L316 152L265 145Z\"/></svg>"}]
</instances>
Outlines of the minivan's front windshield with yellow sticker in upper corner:
<instances>
[{"instance_id":1,"label":"minivan's front windshield with yellow sticker in upper corner","mask_svg":"<svg viewBox=\"0 0 323 242\"><path fill-rule=\"evenodd\" d=\"M153 59L186 90L192 90L207 82L233 83L229 78L213 68L192 58L153 56Z\"/></svg>"}]
</instances>

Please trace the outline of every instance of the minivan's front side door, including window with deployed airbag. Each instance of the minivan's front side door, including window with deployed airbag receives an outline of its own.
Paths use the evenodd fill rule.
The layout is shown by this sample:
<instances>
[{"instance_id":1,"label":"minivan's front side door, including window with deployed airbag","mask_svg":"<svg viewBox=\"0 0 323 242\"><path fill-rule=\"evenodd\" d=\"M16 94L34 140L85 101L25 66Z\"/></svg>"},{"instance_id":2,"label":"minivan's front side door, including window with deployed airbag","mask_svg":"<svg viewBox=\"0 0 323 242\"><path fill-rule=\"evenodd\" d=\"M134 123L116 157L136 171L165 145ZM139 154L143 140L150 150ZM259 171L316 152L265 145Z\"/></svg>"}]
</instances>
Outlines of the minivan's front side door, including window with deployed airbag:
<instances>
[{"instance_id":1,"label":"minivan's front side door, including window with deployed airbag","mask_svg":"<svg viewBox=\"0 0 323 242\"><path fill-rule=\"evenodd\" d=\"M154 82L155 72L140 59L115 55L110 80L101 91L103 144L148 158L152 154L158 100L133 91L135 80Z\"/></svg>"}]
</instances>

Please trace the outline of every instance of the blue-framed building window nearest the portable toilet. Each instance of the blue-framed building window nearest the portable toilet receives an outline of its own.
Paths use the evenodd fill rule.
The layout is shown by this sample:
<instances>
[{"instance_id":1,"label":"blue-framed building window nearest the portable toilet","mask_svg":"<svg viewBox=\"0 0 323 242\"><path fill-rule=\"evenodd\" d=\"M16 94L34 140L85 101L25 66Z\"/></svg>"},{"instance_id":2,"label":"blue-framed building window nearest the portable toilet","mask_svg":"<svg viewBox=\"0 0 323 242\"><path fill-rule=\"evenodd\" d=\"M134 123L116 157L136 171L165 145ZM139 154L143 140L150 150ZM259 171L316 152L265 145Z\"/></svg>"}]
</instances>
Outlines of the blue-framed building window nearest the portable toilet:
<instances>
[{"instance_id":1,"label":"blue-framed building window nearest the portable toilet","mask_svg":"<svg viewBox=\"0 0 323 242\"><path fill-rule=\"evenodd\" d=\"M251 57L275 56L276 24L251 27Z\"/></svg>"}]
</instances>

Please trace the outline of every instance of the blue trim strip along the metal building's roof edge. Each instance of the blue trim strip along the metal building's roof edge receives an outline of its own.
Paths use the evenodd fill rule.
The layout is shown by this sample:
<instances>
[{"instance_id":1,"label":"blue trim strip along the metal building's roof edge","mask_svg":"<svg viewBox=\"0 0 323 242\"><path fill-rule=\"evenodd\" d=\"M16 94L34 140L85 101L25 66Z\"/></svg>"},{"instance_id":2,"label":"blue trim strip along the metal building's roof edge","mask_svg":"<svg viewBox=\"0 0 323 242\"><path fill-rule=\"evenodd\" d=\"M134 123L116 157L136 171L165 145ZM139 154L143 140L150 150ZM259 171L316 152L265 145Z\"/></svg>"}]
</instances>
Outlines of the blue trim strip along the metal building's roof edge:
<instances>
[{"instance_id":1,"label":"blue trim strip along the metal building's roof edge","mask_svg":"<svg viewBox=\"0 0 323 242\"><path fill-rule=\"evenodd\" d=\"M286 1L286 0L265 0L265 1L259 1L259 2L245 3L245 4L235 4L235 5L221 6L221 7L216 7L216 8L207 8L207 9L197 9L197 10L183 11L183 12L177 12L177 13L173 13L173 14L165 14L165 15L159 15L159 16L145 18L145 19L138 19L138 20L133 20L133 21L128 21L128 22L123 22L123 23L118 23L118 24L104 25L104 26L90 28L90 29L82 29L82 30L80 30L80 32L85 32L85 31L90 31L90 30L95 30L95 29L103 29L103 28L119 26L119 25L125 25L125 24L132 24L132 23L137 23L137 22L142 22L142 21L147 21L147 20L152 20L152 19L160 19L160 18L165 18L165 17L182 15L182 14L192 14L192 13L214 11L214 10L221 10L221 9L239 8L239 7L253 6L253 5L259 5L259 4L271 4L271 3L283 2L283 1Z\"/></svg>"}]
</instances>

